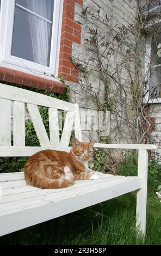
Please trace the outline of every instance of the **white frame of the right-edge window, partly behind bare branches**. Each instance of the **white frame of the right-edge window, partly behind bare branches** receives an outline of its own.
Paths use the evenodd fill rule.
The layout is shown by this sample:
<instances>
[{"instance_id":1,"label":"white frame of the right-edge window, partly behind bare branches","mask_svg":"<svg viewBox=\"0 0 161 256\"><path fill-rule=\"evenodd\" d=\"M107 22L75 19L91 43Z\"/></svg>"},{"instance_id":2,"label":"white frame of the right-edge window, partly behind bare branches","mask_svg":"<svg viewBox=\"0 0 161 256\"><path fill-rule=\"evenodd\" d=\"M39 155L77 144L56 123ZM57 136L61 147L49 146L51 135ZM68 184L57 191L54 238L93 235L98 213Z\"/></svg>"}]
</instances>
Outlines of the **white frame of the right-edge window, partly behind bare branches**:
<instances>
[{"instance_id":1,"label":"white frame of the right-edge window, partly behind bare branches","mask_svg":"<svg viewBox=\"0 0 161 256\"><path fill-rule=\"evenodd\" d=\"M146 93L143 103L161 103L161 97L157 97L157 98L150 97L151 41L152 41L152 35L153 35L153 24L155 23L156 25L161 26L161 19L160 17L158 17L158 11L160 12L160 10L161 10L161 5L159 5L158 7L154 7L149 11L149 13L153 15L153 19L145 27L145 30L149 34L146 39L146 54L145 54L145 74L146 74L146 80L147 80L146 90L148 93ZM155 14L156 14L156 17L155 17ZM143 15L146 17L146 13Z\"/></svg>"}]
</instances>

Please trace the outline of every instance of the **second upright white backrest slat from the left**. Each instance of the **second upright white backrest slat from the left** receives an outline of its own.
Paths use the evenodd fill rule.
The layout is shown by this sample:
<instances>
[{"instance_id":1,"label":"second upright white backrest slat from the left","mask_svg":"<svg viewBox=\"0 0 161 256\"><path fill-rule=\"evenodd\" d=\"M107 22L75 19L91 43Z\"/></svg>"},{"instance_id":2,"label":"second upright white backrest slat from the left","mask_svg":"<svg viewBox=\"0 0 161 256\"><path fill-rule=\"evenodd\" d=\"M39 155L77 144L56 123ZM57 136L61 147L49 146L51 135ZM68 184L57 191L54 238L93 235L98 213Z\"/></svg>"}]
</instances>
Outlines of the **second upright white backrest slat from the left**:
<instances>
[{"instance_id":1,"label":"second upright white backrest slat from the left","mask_svg":"<svg viewBox=\"0 0 161 256\"><path fill-rule=\"evenodd\" d=\"M25 146L24 103L14 101L14 146Z\"/></svg>"}]
</instances>

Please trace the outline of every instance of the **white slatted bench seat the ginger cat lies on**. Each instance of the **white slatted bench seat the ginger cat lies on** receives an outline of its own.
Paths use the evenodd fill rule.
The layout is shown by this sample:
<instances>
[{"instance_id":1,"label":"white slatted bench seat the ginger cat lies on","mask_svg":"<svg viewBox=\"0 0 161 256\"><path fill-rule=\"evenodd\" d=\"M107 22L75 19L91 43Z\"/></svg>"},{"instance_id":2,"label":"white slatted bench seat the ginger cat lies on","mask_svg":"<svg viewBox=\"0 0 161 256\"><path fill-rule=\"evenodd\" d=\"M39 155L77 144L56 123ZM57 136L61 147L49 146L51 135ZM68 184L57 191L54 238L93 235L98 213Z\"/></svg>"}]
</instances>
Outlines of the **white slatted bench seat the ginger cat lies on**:
<instances>
[{"instance_id":1,"label":"white slatted bench seat the ginger cat lies on","mask_svg":"<svg viewBox=\"0 0 161 256\"><path fill-rule=\"evenodd\" d=\"M96 172L98 180L76 181L71 187L41 190L26 184L24 173L0 174L0 235L69 214L141 188L138 176Z\"/></svg>"}]
</instances>

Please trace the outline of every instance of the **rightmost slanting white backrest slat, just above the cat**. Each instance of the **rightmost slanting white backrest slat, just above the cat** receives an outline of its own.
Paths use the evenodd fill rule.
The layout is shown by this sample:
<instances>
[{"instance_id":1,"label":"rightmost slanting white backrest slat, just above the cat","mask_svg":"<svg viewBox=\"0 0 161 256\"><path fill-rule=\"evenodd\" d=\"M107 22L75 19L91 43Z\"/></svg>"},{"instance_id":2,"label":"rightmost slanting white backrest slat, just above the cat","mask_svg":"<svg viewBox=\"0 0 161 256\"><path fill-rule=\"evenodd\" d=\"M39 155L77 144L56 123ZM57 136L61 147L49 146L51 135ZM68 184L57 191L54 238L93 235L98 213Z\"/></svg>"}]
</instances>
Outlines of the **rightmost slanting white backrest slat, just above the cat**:
<instances>
[{"instance_id":1,"label":"rightmost slanting white backrest slat, just above the cat","mask_svg":"<svg viewBox=\"0 0 161 256\"><path fill-rule=\"evenodd\" d=\"M67 112L65 122L64 122L63 132L60 139L60 147L66 147L66 148L69 147L74 120L75 120L75 113L70 111Z\"/></svg>"}]
</instances>

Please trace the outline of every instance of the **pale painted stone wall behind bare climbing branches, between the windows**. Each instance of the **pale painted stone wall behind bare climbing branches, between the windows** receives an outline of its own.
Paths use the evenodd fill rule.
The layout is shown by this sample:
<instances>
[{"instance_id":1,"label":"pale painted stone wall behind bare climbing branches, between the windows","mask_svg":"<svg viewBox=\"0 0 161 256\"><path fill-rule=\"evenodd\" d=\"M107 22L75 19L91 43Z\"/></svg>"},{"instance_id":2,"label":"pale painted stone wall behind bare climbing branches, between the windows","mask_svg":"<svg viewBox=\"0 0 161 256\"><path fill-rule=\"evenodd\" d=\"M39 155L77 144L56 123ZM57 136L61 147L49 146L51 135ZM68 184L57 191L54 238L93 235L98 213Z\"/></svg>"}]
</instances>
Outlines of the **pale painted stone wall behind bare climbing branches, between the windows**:
<instances>
[{"instance_id":1,"label":"pale painted stone wall behind bare climbing branches, between the windows","mask_svg":"<svg viewBox=\"0 0 161 256\"><path fill-rule=\"evenodd\" d=\"M86 140L88 140L89 138L91 139L98 137L97 131L88 131L88 120L91 120L88 114L89 109L101 109L101 107L98 106L94 97L91 96L89 84L98 97L99 105L103 104L105 100L105 84L98 72L99 67L98 63L96 62L96 53L89 50L88 45L86 44L86 39L90 38L89 29L97 29L100 36L105 37L107 40L112 38L111 31L107 29L107 26L104 25L102 21L100 21L101 19L95 19L95 17L94 19L91 19L91 17L89 17L90 15L88 15L88 12L94 15L98 15L99 12L99 15L102 17L102 19L106 19L106 17L108 17L109 25L113 27L115 34L117 34L118 27L122 27L123 25L125 27L130 27L135 24L135 19L138 13L137 8L137 1L134 0L84 0L82 6L77 3L75 4L75 21L79 23L79 25L82 27L82 32L80 44L72 44L71 57L73 59L73 62L80 64L78 77L80 83L84 84L84 87L82 88L82 86L80 86L80 84L78 83L67 82L67 84L70 85L71 89L71 101L77 102L81 107L80 110L82 111L82 130L84 130L83 134L84 139ZM87 15L84 15L85 12L87 12ZM135 42L133 41L133 36L131 34L126 36L123 49L118 50L117 54L114 54L114 56L110 58L110 61L108 61L108 59L105 60L105 63L107 63L108 65L109 71L111 70L112 72L114 72L114 70L118 68L119 63L121 63L122 61L123 54L129 47L131 47L132 49L135 48ZM84 71L82 71L82 69L88 70L88 81L86 80ZM130 69L133 75L133 62L131 62ZM120 81L122 84L128 84L128 74L127 71L123 68L120 73ZM115 94L115 84L113 83L113 81L109 82L111 90L113 94ZM128 92L128 89L127 94L129 95L128 98L130 100L130 90ZM87 115L88 118L86 118L85 115ZM123 120L119 120L119 117L117 117L117 119L117 121L121 121L121 132L125 132L126 123L123 123ZM119 136L117 136L118 131L116 130L116 115L112 111L110 111L110 115L109 112L107 113L106 126L108 127L108 129L106 129L103 135L110 135L110 138L112 138L112 141L114 143L123 142L123 138L119 138ZM128 139L131 139L129 133L129 138L127 138L127 133L128 132L126 132L126 135L124 136L126 137L124 142L128 141Z\"/></svg>"}]
</instances>

